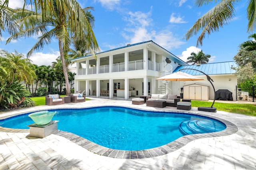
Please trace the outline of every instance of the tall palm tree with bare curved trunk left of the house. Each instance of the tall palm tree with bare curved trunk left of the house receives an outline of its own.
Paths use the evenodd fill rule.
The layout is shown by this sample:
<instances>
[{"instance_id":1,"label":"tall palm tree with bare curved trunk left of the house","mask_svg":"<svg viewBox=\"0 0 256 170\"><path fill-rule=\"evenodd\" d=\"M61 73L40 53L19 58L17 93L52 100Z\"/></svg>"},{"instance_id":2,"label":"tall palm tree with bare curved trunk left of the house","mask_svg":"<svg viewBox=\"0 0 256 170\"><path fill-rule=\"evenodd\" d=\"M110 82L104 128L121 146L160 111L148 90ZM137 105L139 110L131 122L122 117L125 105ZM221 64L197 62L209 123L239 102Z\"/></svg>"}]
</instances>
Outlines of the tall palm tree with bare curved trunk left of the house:
<instances>
[{"instance_id":1,"label":"tall palm tree with bare curved trunk left of the house","mask_svg":"<svg viewBox=\"0 0 256 170\"><path fill-rule=\"evenodd\" d=\"M88 14L86 11L92 8L82 9L76 0L34 0L34 4L36 12L25 9L15 10L15 14L20 17L19 22L22 31L12 35L7 40L7 43L12 39L30 37L33 34L39 35L42 33L42 36L38 37L38 42L28 52L28 56L30 56L34 51L39 51L44 45L48 45L52 37L56 37L66 82L66 92L70 96L70 84L68 82L65 58L68 56L72 37L83 38L93 50L99 49L92 31L91 16L86 16ZM39 13L39 10L41 10L41 13Z\"/></svg>"}]
</instances>

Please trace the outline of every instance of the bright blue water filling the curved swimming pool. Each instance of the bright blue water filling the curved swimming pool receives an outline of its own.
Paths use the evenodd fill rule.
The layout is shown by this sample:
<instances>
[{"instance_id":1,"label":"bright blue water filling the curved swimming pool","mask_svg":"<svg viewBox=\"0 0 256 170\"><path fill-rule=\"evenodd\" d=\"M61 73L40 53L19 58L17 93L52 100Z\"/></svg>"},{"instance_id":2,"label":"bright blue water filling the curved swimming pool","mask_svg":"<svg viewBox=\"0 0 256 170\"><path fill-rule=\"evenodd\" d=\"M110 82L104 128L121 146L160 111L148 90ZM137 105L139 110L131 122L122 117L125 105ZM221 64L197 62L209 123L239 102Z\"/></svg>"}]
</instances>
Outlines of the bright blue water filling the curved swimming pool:
<instances>
[{"instance_id":1,"label":"bright blue water filling the curved swimming pool","mask_svg":"<svg viewBox=\"0 0 256 170\"><path fill-rule=\"evenodd\" d=\"M49 110L50 111L50 110ZM84 137L98 145L119 150L160 147L194 133L222 131L226 126L215 119L193 114L142 111L127 107L54 109L58 129ZM28 129L34 123L28 113L0 121L0 126Z\"/></svg>"}]
</instances>

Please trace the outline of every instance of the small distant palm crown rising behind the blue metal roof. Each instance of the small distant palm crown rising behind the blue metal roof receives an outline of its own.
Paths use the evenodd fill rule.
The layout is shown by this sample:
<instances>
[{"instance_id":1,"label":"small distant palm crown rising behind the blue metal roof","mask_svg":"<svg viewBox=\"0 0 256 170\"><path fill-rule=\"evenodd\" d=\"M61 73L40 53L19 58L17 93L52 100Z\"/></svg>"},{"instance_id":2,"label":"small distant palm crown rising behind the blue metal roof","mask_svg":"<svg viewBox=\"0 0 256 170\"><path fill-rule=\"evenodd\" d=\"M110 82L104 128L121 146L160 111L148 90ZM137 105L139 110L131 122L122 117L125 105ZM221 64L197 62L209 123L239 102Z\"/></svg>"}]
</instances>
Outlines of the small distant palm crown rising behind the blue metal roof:
<instances>
[{"instance_id":1,"label":"small distant palm crown rising behind the blue metal roof","mask_svg":"<svg viewBox=\"0 0 256 170\"><path fill-rule=\"evenodd\" d=\"M209 62L210 55L205 55L203 51L199 51L197 54L192 52L191 56L188 57L188 61L186 63L193 63L193 64L206 64Z\"/></svg>"}]
</instances>

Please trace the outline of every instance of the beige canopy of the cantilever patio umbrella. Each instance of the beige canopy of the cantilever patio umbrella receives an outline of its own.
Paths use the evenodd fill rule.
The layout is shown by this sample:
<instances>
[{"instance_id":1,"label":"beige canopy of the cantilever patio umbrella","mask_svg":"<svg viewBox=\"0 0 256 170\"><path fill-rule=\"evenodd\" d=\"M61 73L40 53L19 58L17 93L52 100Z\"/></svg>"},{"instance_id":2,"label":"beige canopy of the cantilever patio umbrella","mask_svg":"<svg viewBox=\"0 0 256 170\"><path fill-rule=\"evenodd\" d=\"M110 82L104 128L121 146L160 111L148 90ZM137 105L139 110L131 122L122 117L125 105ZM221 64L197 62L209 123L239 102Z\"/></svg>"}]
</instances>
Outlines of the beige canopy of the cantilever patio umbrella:
<instances>
[{"instance_id":1,"label":"beige canopy of the cantilever patio umbrella","mask_svg":"<svg viewBox=\"0 0 256 170\"><path fill-rule=\"evenodd\" d=\"M182 71L174 72L172 74L157 78L156 80L166 80L166 81L198 81L198 80L204 80L202 78L197 78L195 76L192 76L190 74L187 74Z\"/></svg>"}]
</instances>

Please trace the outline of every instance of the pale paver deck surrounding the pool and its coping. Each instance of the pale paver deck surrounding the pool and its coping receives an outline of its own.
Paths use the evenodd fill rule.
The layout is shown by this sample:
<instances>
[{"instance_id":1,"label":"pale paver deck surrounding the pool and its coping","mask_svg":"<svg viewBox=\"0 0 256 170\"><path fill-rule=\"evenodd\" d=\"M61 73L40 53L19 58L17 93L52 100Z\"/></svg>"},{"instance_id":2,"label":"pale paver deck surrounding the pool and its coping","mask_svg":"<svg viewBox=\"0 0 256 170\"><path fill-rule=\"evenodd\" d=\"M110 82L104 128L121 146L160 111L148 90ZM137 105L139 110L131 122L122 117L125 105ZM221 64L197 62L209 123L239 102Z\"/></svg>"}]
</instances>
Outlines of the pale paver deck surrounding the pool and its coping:
<instances>
[{"instance_id":1,"label":"pale paver deck surrounding the pool and its coping","mask_svg":"<svg viewBox=\"0 0 256 170\"><path fill-rule=\"evenodd\" d=\"M126 106L146 110L178 111L176 107L155 108L146 107L146 104L132 105L132 101L127 100L90 99L92 100L83 103L36 106L0 113L0 119L42 109L93 106ZM78 145L79 141L71 140L70 135L56 135L58 134L56 133L40 139L27 137L29 129L0 127L0 170L256 170L256 117L224 111L203 112L198 111L197 107L192 107L189 112L230 121L236 125L236 132L226 136L195 139L180 149L161 156L124 159L90 152Z\"/></svg>"}]
</instances>

